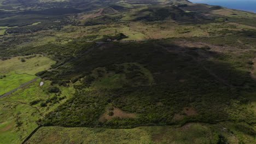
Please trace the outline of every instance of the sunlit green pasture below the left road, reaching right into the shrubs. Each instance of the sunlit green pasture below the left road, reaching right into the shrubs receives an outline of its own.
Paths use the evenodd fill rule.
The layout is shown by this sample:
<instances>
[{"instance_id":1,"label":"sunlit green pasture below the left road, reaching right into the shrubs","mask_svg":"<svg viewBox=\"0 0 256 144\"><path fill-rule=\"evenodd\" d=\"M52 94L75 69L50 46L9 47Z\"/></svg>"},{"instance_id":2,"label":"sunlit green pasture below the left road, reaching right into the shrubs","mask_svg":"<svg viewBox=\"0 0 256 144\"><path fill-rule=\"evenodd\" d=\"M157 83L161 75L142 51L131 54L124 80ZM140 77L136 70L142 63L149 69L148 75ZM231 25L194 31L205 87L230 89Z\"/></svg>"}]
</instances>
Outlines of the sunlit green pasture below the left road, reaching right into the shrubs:
<instances>
[{"instance_id":1,"label":"sunlit green pasture below the left road, reaching right into the shrubs","mask_svg":"<svg viewBox=\"0 0 256 144\"><path fill-rule=\"evenodd\" d=\"M48 93L50 81L45 81L44 85L39 87L40 81L39 79L0 100L1 144L21 143L38 127L36 121L39 118L65 103L74 93L73 87L59 87L62 92L59 97L65 98L58 103L49 103L48 106L42 107L40 103L54 97L55 94ZM31 102L36 100L38 103L31 105Z\"/></svg>"}]
</instances>

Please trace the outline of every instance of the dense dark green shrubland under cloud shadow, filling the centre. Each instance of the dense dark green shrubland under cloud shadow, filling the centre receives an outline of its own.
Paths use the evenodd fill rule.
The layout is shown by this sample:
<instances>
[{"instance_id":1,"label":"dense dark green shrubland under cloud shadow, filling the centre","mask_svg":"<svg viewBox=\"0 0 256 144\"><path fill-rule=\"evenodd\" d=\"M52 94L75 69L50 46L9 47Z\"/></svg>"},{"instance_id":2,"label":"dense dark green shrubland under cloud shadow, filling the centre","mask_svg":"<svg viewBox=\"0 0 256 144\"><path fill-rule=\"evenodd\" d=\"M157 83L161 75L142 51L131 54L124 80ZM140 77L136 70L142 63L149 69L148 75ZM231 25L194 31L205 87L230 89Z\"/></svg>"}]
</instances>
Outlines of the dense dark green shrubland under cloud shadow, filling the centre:
<instances>
[{"instance_id":1,"label":"dense dark green shrubland under cloud shadow, filling the centre","mask_svg":"<svg viewBox=\"0 0 256 144\"><path fill-rule=\"evenodd\" d=\"M186 122L238 121L253 123L254 116L249 114L251 110L242 107L250 101L250 95L255 93L253 90L255 82L246 71L236 69L232 63L222 62L222 57L232 56L189 47L187 50L179 51L181 48L176 45L172 45L168 49L177 51L167 52L159 46L154 46L153 42L117 43L106 46L108 48L104 50L92 51L91 56L77 59L68 67L63 67L63 70L58 70L58 73L54 71L52 74L45 75L50 80L59 80L60 78L72 80L72 77L77 75L78 79L76 80L81 84L74 85L78 90L75 97L69 99L55 112L49 113L42 124L134 127L136 125ZM197 59L204 59L201 55L212 55L216 57L216 60L215 62L199 62ZM127 62L144 65L153 74L154 83L150 84L145 79L141 68L131 68L132 72L127 73L127 68L116 65ZM93 71L98 67L106 69ZM243 68L244 70L250 69L250 64L244 63ZM89 73L89 71L92 72ZM111 76L110 73L115 74ZM123 83L119 83L121 87L110 89L104 87L104 85L114 85L111 83L112 79L122 73L125 75L125 80L132 80L122 80ZM119 79L123 79L121 77ZM72 81L76 82L76 80ZM107 83L100 85L97 82L97 85L94 85L94 81L99 80L106 80ZM138 81L141 82L136 85ZM84 89L90 86L92 86L91 91L88 92L88 89ZM94 90L94 86L98 86L97 89ZM245 86L251 88L245 88ZM234 104L237 106L233 107ZM136 113L136 118L113 118L100 122L100 117L106 106ZM188 113L184 112L184 107L195 110L197 114L187 116ZM220 107L222 108L220 109ZM233 112L236 114L234 115ZM177 116L177 113L184 118L175 119L174 115Z\"/></svg>"}]
</instances>

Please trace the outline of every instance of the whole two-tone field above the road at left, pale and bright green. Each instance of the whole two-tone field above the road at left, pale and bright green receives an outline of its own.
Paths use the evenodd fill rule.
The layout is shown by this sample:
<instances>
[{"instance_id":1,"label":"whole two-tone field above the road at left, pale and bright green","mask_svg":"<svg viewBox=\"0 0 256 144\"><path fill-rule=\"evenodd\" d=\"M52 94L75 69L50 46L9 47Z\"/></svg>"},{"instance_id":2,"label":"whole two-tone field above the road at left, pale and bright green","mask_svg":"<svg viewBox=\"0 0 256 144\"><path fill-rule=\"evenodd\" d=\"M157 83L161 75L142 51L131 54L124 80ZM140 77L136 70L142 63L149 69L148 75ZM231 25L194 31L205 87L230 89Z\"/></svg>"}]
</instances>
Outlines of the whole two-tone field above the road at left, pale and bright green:
<instances>
[{"instance_id":1,"label":"whole two-tone field above the road at left, pale and bright green","mask_svg":"<svg viewBox=\"0 0 256 144\"><path fill-rule=\"evenodd\" d=\"M23 61L23 62L22 62ZM39 71L47 70L55 61L42 55L13 57L0 61L0 95L33 80Z\"/></svg>"}]
</instances>

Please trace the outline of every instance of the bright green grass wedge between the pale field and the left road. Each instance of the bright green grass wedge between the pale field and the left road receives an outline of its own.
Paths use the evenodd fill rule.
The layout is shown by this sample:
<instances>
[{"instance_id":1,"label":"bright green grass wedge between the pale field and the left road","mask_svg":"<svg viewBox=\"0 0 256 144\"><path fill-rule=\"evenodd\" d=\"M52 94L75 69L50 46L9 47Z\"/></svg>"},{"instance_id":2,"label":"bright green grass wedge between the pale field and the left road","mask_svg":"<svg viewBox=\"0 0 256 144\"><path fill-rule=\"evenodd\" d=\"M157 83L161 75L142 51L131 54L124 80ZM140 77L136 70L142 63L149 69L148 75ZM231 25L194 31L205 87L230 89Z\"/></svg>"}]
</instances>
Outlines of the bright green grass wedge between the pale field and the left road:
<instances>
[{"instance_id":1,"label":"bright green grass wedge between the pale field and the left road","mask_svg":"<svg viewBox=\"0 0 256 144\"><path fill-rule=\"evenodd\" d=\"M0 95L7 93L23 85L24 83L36 78L36 76L32 76L28 74L16 74L14 71L4 75L6 77L3 77L2 79L0 79Z\"/></svg>"}]
</instances>

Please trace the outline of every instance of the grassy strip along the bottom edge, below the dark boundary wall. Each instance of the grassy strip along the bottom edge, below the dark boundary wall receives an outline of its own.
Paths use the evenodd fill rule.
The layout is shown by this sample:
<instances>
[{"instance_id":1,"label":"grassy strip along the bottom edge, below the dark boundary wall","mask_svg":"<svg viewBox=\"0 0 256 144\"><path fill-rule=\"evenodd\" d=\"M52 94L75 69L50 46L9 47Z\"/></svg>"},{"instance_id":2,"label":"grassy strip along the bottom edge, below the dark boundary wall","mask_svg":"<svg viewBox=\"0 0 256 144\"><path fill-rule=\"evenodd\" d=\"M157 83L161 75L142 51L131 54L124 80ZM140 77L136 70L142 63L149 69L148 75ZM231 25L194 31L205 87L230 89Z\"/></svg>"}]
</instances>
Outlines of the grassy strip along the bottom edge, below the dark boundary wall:
<instances>
[{"instance_id":1,"label":"grassy strip along the bottom edge, below the dark boundary wall","mask_svg":"<svg viewBox=\"0 0 256 144\"><path fill-rule=\"evenodd\" d=\"M189 123L134 129L42 127L26 143L236 143L234 137L221 131L218 125Z\"/></svg>"}]
</instances>

